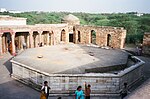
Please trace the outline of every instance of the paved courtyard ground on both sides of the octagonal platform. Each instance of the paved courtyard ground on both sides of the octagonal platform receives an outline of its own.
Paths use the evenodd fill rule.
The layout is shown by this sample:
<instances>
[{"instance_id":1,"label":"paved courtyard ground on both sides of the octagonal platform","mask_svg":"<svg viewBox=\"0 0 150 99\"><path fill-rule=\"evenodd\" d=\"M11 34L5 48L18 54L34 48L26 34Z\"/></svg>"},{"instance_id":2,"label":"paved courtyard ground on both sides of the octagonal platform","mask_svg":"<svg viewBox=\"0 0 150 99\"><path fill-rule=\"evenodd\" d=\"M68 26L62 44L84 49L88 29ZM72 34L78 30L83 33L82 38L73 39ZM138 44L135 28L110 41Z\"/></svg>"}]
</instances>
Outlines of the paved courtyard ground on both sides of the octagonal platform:
<instances>
[{"instance_id":1,"label":"paved courtyard ground on both sides of the octagonal platform","mask_svg":"<svg viewBox=\"0 0 150 99\"><path fill-rule=\"evenodd\" d=\"M132 88L132 92L126 99L150 99L150 57L140 57L146 64L144 67L145 78L136 87ZM10 78L11 64L9 54L0 57L0 99L39 99L39 92L21 84ZM57 97L50 97L50 99L57 99ZM73 97L63 97L63 99L73 99ZM103 99L93 97L92 99Z\"/></svg>"}]
</instances>

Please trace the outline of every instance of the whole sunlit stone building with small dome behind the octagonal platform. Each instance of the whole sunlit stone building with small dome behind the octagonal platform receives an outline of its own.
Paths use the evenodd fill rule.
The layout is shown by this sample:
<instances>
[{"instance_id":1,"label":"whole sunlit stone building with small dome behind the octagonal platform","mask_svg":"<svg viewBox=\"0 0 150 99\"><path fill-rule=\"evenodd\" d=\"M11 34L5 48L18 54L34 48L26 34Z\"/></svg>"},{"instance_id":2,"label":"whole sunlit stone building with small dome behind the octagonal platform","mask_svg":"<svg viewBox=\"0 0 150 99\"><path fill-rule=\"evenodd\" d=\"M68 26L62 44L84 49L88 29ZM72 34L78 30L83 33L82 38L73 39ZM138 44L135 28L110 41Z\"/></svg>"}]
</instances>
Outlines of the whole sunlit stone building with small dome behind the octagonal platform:
<instances>
[{"instance_id":1,"label":"whole sunlit stone building with small dome behind the octagonal platform","mask_svg":"<svg viewBox=\"0 0 150 99\"><path fill-rule=\"evenodd\" d=\"M119 27L80 25L80 20L71 14L61 24L26 25L26 18L0 16L0 54L18 50L61 43L96 44L100 47L122 49L126 30Z\"/></svg>"}]
</instances>

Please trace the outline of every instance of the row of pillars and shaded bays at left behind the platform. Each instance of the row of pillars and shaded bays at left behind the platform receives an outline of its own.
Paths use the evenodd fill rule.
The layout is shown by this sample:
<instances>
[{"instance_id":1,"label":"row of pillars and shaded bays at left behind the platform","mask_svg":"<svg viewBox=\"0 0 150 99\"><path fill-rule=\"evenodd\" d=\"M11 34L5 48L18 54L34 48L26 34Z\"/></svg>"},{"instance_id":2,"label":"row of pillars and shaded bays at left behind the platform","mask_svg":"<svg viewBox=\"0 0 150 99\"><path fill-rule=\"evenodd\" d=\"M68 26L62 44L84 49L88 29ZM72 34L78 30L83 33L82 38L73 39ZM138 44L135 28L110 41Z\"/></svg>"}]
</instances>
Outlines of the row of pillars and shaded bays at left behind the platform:
<instances>
[{"instance_id":1,"label":"row of pillars and shaded bays at left behind the platform","mask_svg":"<svg viewBox=\"0 0 150 99\"><path fill-rule=\"evenodd\" d=\"M4 31L0 33L0 55L10 52L16 55L17 50L26 48L35 48L42 46L54 45L55 38L53 31Z\"/></svg>"}]
</instances>

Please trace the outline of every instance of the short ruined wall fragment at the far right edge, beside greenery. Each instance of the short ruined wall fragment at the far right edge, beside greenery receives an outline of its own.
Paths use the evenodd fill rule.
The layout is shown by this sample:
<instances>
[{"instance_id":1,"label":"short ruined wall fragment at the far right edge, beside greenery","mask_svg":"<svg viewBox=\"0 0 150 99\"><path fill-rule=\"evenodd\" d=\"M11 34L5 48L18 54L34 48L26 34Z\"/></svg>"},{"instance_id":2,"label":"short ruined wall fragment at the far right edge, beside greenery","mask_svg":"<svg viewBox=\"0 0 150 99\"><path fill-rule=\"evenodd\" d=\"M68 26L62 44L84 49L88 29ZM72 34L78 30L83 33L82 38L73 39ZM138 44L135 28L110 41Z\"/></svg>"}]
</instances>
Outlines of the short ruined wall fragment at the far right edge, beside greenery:
<instances>
[{"instance_id":1,"label":"short ruined wall fragment at the far right edge, beside greenery","mask_svg":"<svg viewBox=\"0 0 150 99\"><path fill-rule=\"evenodd\" d=\"M145 33L143 37L143 53L150 55L150 33Z\"/></svg>"}]
</instances>

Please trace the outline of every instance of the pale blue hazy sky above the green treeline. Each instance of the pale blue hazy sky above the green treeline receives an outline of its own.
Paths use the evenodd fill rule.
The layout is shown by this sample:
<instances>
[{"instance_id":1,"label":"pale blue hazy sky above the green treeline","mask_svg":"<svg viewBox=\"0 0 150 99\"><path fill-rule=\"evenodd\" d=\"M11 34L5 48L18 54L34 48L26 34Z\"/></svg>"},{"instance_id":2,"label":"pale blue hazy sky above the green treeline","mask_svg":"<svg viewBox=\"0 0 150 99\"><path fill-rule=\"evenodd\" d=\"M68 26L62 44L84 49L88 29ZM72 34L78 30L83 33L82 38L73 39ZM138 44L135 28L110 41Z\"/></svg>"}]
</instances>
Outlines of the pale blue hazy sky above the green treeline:
<instances>
[{"instance_id":1,"label":"pale blue hazy sky above the green treeline","mask_svg":"<svg viewBox=\"0 0 150 99\"><path fill-rule=\"evenodd\" d=\"M150 13L150 0L0 0L0 8L45 12Z\"/></svg>"}]
</instances>

